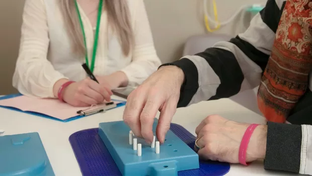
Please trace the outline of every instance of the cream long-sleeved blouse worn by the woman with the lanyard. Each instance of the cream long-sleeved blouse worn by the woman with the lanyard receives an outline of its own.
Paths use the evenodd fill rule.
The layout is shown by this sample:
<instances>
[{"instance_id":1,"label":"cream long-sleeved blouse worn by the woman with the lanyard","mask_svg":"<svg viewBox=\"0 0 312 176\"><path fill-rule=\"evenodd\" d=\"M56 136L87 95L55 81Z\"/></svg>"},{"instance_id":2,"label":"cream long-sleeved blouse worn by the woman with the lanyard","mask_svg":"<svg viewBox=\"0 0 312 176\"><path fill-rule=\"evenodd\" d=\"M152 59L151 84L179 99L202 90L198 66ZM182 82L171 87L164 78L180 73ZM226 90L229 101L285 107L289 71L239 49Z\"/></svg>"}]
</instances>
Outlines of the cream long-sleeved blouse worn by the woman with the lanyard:
<instances>
[{"instance_id":1,"label":"cream long-sleeved blouse worn by the woman with the lanyard","mask_svg":"<svg viewBox=\"0 0 312 176\"><path fill-rule=\"evenodd\" d=\"M57 1L25 2L20 51L13 76L13 86L24 95L54 97L53 85L59 79L80 81L87 78L82 68L85 57L77 58L71 52ZM94 75L122 71L129 85L137 86L158 69L161 61L153 45L143 0L128 0L128 5L134 31L133 50L124 56L118 36L107 27L107 13L103 11ZM80 12L91 63L94 30L81 8Z\"/></svg>"}]
</instances>

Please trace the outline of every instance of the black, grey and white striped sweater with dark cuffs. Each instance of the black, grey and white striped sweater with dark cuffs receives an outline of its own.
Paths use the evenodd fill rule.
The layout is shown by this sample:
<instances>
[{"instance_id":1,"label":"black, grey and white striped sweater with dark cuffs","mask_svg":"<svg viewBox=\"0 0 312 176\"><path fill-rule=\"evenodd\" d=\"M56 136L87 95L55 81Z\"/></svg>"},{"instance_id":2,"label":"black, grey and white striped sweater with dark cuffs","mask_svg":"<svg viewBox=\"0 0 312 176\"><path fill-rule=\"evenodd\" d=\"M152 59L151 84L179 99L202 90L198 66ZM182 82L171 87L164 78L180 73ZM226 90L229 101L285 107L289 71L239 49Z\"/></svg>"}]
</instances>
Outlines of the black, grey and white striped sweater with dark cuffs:
<instances>
[{"instance_id":1,"label":"black, grey and white striped sweater with dark cuffs","mask_svg":"<svg viewBox=\"0 0 312 176\"><path fill-rule=\"evenodd\" d=\"M246 32L165 64L178 66L185 73L178 107L230 97L259 86L285 4L282 0L268 0ZM292 125L268 122L265 169L312 175L311 79L305 94L287 116Z\"/></svg>"}]
</instances>

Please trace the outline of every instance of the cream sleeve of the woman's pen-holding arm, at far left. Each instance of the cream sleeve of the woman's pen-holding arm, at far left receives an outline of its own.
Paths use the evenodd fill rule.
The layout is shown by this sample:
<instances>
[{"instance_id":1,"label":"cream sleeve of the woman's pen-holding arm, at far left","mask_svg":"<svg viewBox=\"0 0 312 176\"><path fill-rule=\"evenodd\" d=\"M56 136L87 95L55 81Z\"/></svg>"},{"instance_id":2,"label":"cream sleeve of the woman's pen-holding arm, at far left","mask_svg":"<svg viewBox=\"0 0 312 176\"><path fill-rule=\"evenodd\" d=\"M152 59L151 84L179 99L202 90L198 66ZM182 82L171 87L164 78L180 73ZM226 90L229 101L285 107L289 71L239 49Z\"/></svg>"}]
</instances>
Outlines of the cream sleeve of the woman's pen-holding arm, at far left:
<instances>
[{"instance_id":1,"label":"cream sleeve of the woman's pen-holding arm, at far left","mask_svg":"<svg viewBox=\"0 0 312 176\"><path fill-rule=\"evenodd\" d=\"M49 35L45 9L43 0L25 2L13 86L24 95L55 97L55 90L67 79L47 60Z\"/></svg>"}]
</instances>

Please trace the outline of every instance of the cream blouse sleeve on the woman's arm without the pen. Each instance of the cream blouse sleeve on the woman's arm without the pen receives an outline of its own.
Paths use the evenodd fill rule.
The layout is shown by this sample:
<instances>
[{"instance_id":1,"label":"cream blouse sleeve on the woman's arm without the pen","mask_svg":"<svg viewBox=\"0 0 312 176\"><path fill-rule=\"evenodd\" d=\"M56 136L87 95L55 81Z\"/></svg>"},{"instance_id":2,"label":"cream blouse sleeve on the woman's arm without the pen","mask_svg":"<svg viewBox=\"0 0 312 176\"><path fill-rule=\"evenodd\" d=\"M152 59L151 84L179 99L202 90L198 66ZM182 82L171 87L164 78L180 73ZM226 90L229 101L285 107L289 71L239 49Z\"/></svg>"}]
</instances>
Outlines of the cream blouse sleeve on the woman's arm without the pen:
<instances>
[{"instance_id":1,"label":"cream blouse sleeve on the woman's arm without the pen","mask_svg":"<svg viewBox=\"0 0 312 176\"><path fill-rule=\"evenodd\" d=\"M134 3L134 2L132 2ZM141 84L148 76L161 65L154 48L147 14L142 0L135 1L134 22L134 48L132 62L122 69L131 86Z\"/></svg>"}]
</instances>

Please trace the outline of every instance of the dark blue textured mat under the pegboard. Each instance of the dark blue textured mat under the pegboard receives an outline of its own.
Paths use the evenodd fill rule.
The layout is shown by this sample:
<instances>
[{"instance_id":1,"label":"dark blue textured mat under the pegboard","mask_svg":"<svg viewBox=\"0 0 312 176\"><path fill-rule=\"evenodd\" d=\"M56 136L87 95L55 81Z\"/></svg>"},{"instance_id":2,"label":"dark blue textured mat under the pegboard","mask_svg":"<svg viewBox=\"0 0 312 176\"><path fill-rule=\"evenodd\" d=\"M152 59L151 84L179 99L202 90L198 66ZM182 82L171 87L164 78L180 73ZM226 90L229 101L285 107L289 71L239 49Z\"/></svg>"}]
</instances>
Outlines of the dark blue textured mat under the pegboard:
<instances>
[{"instance_id":1,"label":"dark blue textured mat under the pegboard","mask_svg":"<svg viewBox=\"0 0 312 176\"><path fill-rule=\"evenodd\" d=\"M171 124L170 130L189 147L194 148L195 137L177 124ZM84 176L110 175L121 176L108 149L98 135L98 128L76 132L69 137L69 142ZM229 164L216 161L200 161L199 169L179 171L180 176L224 175L229 171Z\"/></svg>"}]
</instances>

